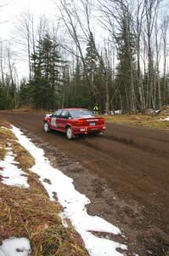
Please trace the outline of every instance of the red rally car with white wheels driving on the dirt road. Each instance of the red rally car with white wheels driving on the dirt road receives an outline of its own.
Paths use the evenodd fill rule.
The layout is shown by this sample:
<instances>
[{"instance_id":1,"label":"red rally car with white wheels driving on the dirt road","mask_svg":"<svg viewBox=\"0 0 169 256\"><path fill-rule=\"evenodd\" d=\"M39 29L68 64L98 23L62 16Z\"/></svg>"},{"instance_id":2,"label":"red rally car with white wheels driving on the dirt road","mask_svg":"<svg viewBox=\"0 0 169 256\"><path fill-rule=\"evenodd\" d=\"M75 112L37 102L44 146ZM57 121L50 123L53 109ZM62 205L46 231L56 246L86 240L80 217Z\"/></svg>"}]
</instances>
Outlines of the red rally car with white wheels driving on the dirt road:
<instances>
[{"instance_id":1,"label":"red rally car with white wheels driving on the dirt road","mask_svg":"<svg viewBox=\"0 0 169 256\"><path fill-rule=\"evenodd\" d=\"M63 131L68 139L91 132L103 134L105 128L104 118L95 116L85 108L59 109L53 114L46 114L43 119L44 131Z\"/></svg>"}]
</instances>

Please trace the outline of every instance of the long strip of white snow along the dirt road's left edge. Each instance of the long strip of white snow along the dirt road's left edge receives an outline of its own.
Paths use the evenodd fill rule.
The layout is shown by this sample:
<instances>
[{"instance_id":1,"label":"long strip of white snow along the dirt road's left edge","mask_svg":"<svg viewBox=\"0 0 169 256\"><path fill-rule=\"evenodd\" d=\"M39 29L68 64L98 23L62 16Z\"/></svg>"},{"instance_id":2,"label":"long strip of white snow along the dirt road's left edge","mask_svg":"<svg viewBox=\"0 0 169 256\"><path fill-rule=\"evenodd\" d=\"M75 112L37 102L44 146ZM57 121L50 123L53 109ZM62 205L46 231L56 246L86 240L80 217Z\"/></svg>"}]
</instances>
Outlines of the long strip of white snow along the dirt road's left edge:
<instances>
[{"instance_id":1,"label":"long strip of white snow along the dirt road's left edge","mask_svg":"<svg viewBox=\"0 0 169 256\"><path fill-rule=\"evenodd\" d=\"M82 236L88 253L91 256L119 256L115 249L121 247L127 249L125 245L109 239L93 236L91 231L107 232L112 234L120 234L121 231L113 224L108 223L103 218L90 216L87 214L86 205L90 203L86 195L82 195L73 185L73 180L65 176L58 169L50 166L47 158L44 157L42 148L37 148L31 140L23 135L20 129L13 126L12 131L18 138L20 144L25 147L35 159L35 166L31 168L32 172L40 176L45 189L51 201L54 201L54 193L57 193L60 204L65 211L60 214L63 218L70 218L77 232ZM50 184L44 182L44 179L50 180Z\"/></svg>"}]
</instances>

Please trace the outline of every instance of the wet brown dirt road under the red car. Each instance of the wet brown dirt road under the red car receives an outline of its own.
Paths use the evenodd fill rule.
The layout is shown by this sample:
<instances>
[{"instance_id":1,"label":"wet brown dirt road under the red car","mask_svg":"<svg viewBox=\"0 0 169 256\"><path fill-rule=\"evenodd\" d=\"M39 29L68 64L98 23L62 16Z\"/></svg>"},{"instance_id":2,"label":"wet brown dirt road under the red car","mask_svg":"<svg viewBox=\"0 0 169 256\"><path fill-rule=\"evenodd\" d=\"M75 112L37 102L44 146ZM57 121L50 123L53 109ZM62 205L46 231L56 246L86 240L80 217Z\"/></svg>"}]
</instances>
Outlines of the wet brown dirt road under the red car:
<instances>
[{"instance_id":1,"label":"wet brown dirt road under the red car","mask_svg":"<svg viewBox=\"0 0 169 256\"><path fill-rule=\"evenodd\" d=\"M104 137L42 131L42 114L0 112L44 149L52 164L87 195L90 214L117 225L125 255L169 253L169 132L107 124ZM106 236L97 234L97 236ZM168 254L167 254L168 255Z\"/></svg>"}]
</instances>

